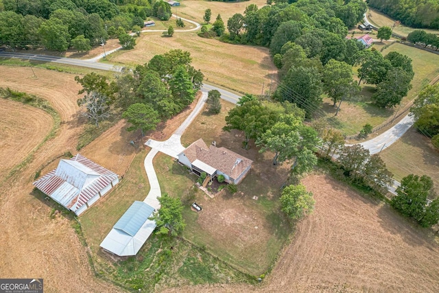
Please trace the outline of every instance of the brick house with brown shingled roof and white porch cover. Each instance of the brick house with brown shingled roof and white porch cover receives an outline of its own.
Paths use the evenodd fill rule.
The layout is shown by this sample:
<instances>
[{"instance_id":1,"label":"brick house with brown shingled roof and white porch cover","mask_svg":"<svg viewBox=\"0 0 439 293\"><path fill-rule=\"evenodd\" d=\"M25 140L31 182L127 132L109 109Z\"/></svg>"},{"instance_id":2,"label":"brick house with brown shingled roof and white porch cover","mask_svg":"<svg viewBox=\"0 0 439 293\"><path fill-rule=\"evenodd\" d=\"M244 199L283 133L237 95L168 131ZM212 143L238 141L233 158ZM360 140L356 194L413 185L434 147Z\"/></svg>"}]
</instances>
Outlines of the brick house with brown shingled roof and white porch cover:
<instances>
[{"instance_id":1,"label":"brick house with brown shingled roof and white porch cover","mask_svg":"<svg viewBox=\"0 0 439 293\"><path fill-rule=\"evenodd\" d=\"M206 172L208 176L223 175L226 183L238 184L248 174L253 161L226 148L207 147L202 139L194 141L178 154L178 161L195 174Z\"/></svg>"}]
</instances>

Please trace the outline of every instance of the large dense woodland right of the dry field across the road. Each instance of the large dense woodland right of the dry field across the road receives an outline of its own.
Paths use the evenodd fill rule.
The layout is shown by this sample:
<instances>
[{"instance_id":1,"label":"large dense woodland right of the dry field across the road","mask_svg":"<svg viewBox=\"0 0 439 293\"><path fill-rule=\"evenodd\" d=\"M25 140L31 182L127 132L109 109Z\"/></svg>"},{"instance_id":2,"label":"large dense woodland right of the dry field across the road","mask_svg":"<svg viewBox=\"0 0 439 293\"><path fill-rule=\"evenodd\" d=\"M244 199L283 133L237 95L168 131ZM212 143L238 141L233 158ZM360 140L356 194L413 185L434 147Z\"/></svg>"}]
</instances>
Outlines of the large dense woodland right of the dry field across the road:
<instances>
[{"instance_id":1,"label":"large dense woodland right of the dry field across the road","mask_svg":"<svg viewBox=\"0 0 439 293\"><path fill-rule=\"evenodd\" d=\"M362 1L343 5L331 1L277 2L261 9L250 4L244 15L234 14L226 26L218 14L210 30L203 26L200 36L269 47L280 80L272 98L296 104L307 118L320 110L324 93L337 106L337 115L342 101L359 96L361 81L376 85L372 101L377 106L391 108L411 89L412 60L396 52L383 57L357 39L346 38L348 27L365 11ZM211 14L211 9L204 12L206 23ZM381 37L388 38L388 31L381 32ZM353 66L360 67L358 84L353 80Z\"/></svg>"}]
</instances>

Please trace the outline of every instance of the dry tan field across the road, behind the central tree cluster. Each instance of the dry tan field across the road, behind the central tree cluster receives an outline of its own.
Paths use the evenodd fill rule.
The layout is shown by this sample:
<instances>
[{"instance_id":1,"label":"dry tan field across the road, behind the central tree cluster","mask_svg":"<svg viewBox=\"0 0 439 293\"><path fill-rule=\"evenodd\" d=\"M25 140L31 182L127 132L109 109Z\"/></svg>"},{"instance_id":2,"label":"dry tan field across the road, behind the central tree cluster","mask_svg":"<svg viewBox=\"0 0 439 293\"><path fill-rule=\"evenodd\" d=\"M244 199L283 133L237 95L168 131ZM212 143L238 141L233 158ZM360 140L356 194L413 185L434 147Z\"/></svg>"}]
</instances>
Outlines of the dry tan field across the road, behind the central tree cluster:
<instances>
[{"instance_id":1,"label":"dry tan field across the road, behind the central tree cluster","mask_svg":"<svg viewBox=\"0 0 439 293\"><path fill-rule=\"evenodd\" d=\"M204 73L204 81L227 89L261 94L263 83L268 89L270 78L276 75L267 48L226 44L200 38L195 32L174 34L172 38L163 38L160 33L141 34L136 49L118 51L108 56L108 60L143 65L171 49L189 51L192 65Z\"/></svg>"}]
</instances>

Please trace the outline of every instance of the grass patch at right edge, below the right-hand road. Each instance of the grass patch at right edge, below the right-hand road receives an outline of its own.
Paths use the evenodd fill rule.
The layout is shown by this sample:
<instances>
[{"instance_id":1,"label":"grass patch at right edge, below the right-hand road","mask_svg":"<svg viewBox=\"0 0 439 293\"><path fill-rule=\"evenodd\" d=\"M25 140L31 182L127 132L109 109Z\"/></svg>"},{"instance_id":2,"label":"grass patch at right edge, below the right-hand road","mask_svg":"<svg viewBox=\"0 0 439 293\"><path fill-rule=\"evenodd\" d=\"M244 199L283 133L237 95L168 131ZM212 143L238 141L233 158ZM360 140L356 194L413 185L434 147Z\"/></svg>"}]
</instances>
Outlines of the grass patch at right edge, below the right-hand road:
<instances>
[{"instance_id":1,"label":"grass patch at right edge, below the right-hand road","mask_svg":"<svg viewBox=\"0 0 439 293\"><path fill-rule=\"evenodd\" d=\"M410 128L401 139L385 148L380 156L395 180L401 181L409 174L427 175L433 179L439 194L439 151L416 128Z\"/></svg>"}]
</instances>

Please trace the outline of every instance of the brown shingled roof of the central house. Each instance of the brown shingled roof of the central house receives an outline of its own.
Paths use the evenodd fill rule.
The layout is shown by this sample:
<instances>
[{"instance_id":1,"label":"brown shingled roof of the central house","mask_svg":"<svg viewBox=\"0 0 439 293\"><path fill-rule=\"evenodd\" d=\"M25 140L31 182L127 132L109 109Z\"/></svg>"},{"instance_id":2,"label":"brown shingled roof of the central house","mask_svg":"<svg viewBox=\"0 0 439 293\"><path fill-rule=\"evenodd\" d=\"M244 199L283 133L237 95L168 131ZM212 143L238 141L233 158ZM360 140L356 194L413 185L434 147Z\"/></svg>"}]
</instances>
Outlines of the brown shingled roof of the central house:
<instances>
[{"instance_id":1,"label":"brown shingled roof of the central house","mask_svg":"<svg viewBox=\"0 0 439 293\"><path fill-rule=\"evenodd\" d=\"M207 148L206 143L202 139L191 143L183 153L191 163L198 159L234 179L238 178L253 163L252 160L247 159L245 156L241 156L226 148L217 148L213 145Z\"/></svg>"}]
</instances>

